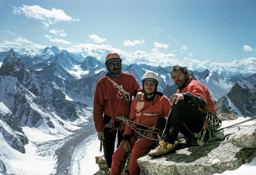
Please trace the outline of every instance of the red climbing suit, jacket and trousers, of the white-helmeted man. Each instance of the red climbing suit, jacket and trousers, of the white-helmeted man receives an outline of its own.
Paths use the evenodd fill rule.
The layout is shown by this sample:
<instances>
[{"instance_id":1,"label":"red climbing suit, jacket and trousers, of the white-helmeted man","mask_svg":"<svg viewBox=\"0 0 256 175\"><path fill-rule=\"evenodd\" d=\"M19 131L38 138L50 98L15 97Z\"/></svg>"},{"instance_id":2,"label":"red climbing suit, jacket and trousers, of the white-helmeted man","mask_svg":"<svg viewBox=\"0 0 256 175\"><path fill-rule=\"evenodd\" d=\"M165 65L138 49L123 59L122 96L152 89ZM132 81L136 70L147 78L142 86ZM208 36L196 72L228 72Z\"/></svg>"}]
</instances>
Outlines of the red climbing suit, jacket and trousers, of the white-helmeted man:
<instances>
[{"instance_id":1,"label":"red climbing suit, jacket and trousers, of the white-helmeted man","mask_svg":"<svg viewBox=\"0 0 256 175\"><path fill-rule=\"evenodd\" d=\"M132 120L136 123L141 123L146 126L156 126L157 119L161 116L168 117L168 114L171 109L170 101L166 96L154 97L152 101L145 101L143 96L142 101L138 102L136 100L132 101L130 108L129 120ZM129 134L133 135L133 131L130 126L126 125L126 129L123 135ZM130 138L130 147L132 152L130 154L130 166L129 174L139 174L139 167L137 164L138 158L142 157L146 151L154 147L155 141L141 137L138 142L137 139L131 136ZM135 144L136 142L136 144ZM111 165L111 174L121 174L123 169L123 163L127 158L127 152L123 149L123 142L114 152Z\"/></svg>"}]
</instances>

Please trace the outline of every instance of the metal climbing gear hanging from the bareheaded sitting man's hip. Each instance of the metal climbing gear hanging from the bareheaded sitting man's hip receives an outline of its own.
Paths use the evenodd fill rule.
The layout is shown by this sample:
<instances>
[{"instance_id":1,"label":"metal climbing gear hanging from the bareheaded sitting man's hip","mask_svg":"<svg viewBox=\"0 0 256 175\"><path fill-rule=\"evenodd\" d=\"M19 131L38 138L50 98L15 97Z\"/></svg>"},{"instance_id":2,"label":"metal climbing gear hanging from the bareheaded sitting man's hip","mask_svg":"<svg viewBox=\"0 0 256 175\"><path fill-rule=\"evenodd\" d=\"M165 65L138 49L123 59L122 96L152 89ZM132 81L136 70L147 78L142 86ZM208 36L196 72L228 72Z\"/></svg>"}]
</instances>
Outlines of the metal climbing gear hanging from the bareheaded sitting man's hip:
<instances>
[{"instance_id":1,"label":"metal climbing gear hanging from the bareheaded sitting man's hip","mask_svg":"<svg viewBox=\"0 0 256 175\"><path fill-rule=\"evenodd\" d=\"M224 139L223 131L217 131L221 127L222 120L213 113L207 113L204 118L204 126L199 133L193 133L199 146L211 144L217 139Z\"/></svg>"}]
</instances>

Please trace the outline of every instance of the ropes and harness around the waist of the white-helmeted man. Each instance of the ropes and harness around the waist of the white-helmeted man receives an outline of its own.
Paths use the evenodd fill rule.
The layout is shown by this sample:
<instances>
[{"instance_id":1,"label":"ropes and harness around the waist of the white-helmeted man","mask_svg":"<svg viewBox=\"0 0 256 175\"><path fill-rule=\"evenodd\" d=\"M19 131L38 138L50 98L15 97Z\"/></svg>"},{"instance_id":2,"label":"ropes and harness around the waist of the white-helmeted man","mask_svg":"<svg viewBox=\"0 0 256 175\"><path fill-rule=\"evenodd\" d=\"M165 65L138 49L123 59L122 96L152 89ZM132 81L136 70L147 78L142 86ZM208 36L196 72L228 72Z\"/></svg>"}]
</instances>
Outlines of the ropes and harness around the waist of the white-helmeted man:
<instances>
[{"instance_id":1,"label":"ropes and harness around the waist of the white-helmeted man","mask_svg":"<svg viewBox=\"0 0 256 175\"><path fill-rule=\"evenodd\" d=\"M127 125L127 126L130 126L130 128L133 129L133 131L135 131L136 133L138 133L138 141L139 139L143 136L147 139L151 139L152 141L161 141L161 138L158 137L158 139L153 139L153 138L149 138L146 135L146 133L148 132L152 132L152 133L155 133L156 135L161 135L162 133L161 132L157 132L155 131L156 128L155 126L147 126L147 125L143 125L141 123L137 123L137 122L133 122L132 120L128 120L127 118L125 117L121 117L121 116L117 116L116 117L117 119L119 120L123 120L123 122ZM138 126L143 126L143 128L140 128Z\"/></svg>"}]
</instances>

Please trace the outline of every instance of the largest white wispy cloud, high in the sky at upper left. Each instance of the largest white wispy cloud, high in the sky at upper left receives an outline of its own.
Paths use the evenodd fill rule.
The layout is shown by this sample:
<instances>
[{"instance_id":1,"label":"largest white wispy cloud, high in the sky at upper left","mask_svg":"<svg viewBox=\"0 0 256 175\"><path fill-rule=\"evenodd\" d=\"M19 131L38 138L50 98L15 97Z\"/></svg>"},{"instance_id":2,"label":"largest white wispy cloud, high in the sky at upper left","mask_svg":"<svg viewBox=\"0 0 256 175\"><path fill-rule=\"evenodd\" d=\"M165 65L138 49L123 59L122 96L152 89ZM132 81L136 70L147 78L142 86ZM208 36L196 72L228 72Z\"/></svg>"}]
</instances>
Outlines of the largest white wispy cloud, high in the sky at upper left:
<instances>
[{"instance_id":1,"label":"largest white wispy cloud, high in the sky at upper left","mask_svg":"<svg viewBox=\"0 0 256 175\"><path fill-rule=\"evenodd\" d=\"M79 21L79 19L73 19L62 9L52 8L51 10L39 7L39 5L23 5L22 7L13 7L14 14L24 14L28 18L41 21L45 27L49 27L49 24L55 24L59 21Z\"/></svg>"}]
</instances>

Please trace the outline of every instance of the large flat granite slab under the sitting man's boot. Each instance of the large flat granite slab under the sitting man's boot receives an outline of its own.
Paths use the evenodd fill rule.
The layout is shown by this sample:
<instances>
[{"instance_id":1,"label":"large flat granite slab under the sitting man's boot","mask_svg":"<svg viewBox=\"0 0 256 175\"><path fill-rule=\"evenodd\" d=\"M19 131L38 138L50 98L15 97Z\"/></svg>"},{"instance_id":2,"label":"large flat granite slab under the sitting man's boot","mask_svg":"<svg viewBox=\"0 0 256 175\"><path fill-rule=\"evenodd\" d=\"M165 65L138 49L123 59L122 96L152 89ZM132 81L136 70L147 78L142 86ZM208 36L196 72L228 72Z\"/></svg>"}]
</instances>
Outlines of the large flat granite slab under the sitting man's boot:
<instances>
[{"instance_id":1,"label":"large flat granite slab under the sitting man's boot","mask_svg":"<svg viewBox=\"0 0 256 175\"><path fill-rule=\"evenodd\" d=\"M214 174L236 170L256 156L256 149L238 148L231 143L189 147L173 154L138 160L141 175L148 174Z\"/></svg>"}]
</instances>

